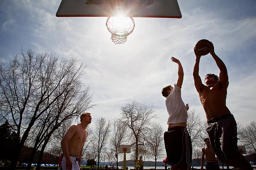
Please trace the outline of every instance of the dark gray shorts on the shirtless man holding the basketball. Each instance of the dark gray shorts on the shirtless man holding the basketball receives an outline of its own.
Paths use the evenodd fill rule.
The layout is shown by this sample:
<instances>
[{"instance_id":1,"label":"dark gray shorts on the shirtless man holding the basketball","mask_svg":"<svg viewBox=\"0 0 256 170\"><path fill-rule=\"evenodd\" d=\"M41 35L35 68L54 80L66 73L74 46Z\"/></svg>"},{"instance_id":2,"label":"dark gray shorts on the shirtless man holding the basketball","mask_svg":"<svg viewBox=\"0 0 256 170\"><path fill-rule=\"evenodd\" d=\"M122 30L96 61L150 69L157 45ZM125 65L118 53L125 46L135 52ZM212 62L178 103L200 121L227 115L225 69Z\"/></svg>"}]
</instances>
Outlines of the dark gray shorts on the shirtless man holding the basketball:
<instances>
[{"instance_id":1,"label":"dark gray shorts on the shirtless man holding the basketball","mask_svg":"<svg viewBox=\"0 0 256 170\"><path fill-rule=\"evenodd\" d=\"M206 131L209 135L213 151L221 162L241 155L237 145L236 121L232 114L216 122L208 123Z\"/></svg>"}]
</instances>

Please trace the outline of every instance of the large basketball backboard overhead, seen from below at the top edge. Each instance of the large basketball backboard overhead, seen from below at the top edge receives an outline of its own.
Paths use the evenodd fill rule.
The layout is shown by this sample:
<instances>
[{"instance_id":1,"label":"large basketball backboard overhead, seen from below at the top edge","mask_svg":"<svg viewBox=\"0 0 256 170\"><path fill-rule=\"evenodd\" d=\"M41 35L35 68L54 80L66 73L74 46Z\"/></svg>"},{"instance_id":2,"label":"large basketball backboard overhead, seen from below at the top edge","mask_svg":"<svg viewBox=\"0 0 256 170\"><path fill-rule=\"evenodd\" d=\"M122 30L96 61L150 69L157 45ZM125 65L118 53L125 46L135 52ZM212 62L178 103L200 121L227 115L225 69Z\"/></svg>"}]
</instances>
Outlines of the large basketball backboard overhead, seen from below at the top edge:
<instances>
[{"instance_id":1,"label":"large basketball backboard overhead, seen from below at the top edge","mask_svg":"<svg viewBox=\"0 0 256 170\"><path fill-rule=\"evenodd\" d=\"M56 16L123 16L152 18L182 17L177 0L62 0Z\"/></svg>"}]
</instances>

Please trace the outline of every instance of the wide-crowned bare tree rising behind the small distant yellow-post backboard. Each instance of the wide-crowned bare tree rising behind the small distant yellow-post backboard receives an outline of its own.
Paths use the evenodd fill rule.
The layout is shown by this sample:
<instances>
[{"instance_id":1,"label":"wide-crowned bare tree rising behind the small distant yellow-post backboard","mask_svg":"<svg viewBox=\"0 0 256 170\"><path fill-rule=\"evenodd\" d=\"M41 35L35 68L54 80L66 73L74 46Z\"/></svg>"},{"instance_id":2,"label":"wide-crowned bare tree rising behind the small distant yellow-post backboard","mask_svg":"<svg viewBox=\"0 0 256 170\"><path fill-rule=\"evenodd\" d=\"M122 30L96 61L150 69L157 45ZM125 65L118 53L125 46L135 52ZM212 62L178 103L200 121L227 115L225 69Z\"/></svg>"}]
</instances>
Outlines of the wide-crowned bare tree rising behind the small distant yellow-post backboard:
<instances>
[{"instance_id":1,"label":"wide-crowned bare tree rising behind the small distant yellow-post backboard","mask_svg":"<svg viewBox=\"0 0 256 170\"><path fill-rule=\"evenodd\" d=\"M135 159L137 160L138 146L145 145L145 134L149 130L151 120L157 118L157 115L154 114L155 107L133 100L125 103L121 107L121 111L119 120L132 131L130 137L134 142L131 146L135 145Z\"/></svg>"}]
</instances>

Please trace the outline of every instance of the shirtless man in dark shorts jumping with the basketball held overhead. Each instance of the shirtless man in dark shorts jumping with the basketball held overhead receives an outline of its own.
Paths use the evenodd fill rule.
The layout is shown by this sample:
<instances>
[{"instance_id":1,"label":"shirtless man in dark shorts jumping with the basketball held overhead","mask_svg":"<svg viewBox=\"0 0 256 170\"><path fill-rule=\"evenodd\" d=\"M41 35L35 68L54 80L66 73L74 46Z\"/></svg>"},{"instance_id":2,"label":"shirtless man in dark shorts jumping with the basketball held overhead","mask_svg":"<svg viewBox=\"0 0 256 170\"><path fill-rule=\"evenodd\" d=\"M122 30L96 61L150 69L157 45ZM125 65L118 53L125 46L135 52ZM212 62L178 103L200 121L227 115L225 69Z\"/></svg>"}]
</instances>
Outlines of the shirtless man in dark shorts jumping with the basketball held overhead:
<instances>
[{"instance_id":1,"label":"shirtless man in dark shorts jumping with the basketball held overhead","mask_svg":"<svg viewBox=\"0 0 256 170\"><path fill-rule=\"evenodd\" d=\"M201 56L195 50L196 62L194 64L194 85L199 94L200 101L206 112L207 133L210 138L213 151L218 159L228 165L242 170L252 169L248 160L238 150L237 126L234 116L226 107L226 95L229 85L228 71L224 62L215 54L212 42L207 43L214 61L220 73L219 78L215 74L207 74L204 83L199 76L199 61Z\"/></svg>"}]
</instances>

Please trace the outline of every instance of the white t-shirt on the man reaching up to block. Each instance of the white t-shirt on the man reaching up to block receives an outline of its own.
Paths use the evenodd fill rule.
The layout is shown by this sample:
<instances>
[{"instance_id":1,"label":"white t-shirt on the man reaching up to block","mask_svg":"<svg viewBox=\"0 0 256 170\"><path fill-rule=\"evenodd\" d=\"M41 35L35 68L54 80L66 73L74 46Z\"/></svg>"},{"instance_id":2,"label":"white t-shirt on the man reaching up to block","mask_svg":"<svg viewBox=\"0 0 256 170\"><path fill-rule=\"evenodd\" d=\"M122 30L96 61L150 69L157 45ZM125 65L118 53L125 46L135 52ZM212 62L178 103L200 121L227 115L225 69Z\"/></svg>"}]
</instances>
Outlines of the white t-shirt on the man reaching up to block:
<instances>
[{"instance_id":1,"label":"white t-shirt on the man reaching up to block","mask_svg":"<svg viewBox=\"0 0 256 170\"><path fill-rule=\"evenodd\" d=\"M170 123L187 123L187 108L181 98L181 88L176 84L174 84L174 89L172 89L169 96L166 97L165 104L169 113L167 125Z\"/></svg>"}]
</instances>

